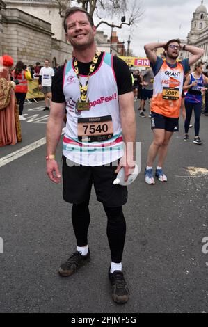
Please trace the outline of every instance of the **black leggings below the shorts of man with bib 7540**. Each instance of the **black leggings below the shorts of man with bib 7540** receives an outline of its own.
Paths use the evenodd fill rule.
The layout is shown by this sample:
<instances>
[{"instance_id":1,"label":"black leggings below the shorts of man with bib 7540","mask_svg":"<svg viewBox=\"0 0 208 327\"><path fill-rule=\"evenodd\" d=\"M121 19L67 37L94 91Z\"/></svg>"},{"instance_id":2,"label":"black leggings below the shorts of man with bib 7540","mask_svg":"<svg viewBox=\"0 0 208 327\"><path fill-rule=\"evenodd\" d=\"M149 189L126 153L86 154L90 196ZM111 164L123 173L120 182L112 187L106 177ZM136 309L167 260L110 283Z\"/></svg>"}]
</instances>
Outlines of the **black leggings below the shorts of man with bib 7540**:
<instances>
[{"instance_id":1,"label":"black leggings below the shorts of man with bib 7540","mask_svg":"<svg viewBox=\"0 0 208 327\"><path fill-rule=\"evenodd\" d=\"M111 260L115 263L122 261L122 253L125 245L126 222L122 207L106 207L104 210L108 217L107 237L111 250ZM90 225L90 212L88 202L72 206L72 225L77 239L77 246L88 244L88 227Z\"/></svg>"}]
</instances>

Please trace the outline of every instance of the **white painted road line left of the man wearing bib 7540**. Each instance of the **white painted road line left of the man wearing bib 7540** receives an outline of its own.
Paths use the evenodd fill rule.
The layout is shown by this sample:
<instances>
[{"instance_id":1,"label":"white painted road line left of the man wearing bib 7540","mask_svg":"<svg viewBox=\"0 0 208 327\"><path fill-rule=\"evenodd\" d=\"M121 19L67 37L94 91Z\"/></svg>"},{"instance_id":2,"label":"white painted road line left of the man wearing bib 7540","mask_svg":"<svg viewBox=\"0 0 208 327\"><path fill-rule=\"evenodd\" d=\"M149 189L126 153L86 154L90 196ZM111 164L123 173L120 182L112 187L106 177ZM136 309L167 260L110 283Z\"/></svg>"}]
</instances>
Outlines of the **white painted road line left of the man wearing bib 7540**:
<instances>
[{"instance_id":1,"label":"white painted road line left of the man wearing bib 7540","mask_svg":"<svg viewBox=\"0 0 208 327\"><path fill-rule=\"evenodd\" d=\"M62 134L65 133L65 128L62 129ZM38 147L41 147L42 145L44 145L46 143L46 138L40 138L40 140L35 141L29 145L26 145L25 147L22 147L22 149L19 149L15 152L12 152L10 154L7 154L5 157L0 159L0 168L7 165L7 163L10 163L16 159L18 159L19 157L24 156L24 154L27 154L35 149L37 149Z\"/></svg>"}]
</instances>

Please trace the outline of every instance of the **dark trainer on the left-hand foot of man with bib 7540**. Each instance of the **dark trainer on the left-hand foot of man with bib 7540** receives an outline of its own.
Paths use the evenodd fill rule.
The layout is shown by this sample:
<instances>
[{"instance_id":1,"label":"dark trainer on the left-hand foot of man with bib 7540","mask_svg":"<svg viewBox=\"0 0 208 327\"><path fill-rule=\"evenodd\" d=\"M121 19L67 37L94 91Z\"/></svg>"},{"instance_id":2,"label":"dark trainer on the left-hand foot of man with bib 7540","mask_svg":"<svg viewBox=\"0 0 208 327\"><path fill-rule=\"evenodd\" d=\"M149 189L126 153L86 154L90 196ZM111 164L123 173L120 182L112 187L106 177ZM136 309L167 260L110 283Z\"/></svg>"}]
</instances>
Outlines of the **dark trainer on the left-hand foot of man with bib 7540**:
<instances>
[{"instance_id":1,"label":"dark trainer on the left-hand foot of man with bib 7540","mask_svg":"<svg viewBox=\"0 0 208 327\"><path fill-rule=\"evenodd\" d=\"M88 250L87 255L81 255L80 252L76 251L67 259L66 262L61 264L58 272L61 276L71 276L73 273L76 273L77 269L87 262L90 262L90 250Z\"/></svg>"}]
</instances>

